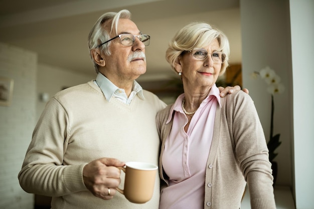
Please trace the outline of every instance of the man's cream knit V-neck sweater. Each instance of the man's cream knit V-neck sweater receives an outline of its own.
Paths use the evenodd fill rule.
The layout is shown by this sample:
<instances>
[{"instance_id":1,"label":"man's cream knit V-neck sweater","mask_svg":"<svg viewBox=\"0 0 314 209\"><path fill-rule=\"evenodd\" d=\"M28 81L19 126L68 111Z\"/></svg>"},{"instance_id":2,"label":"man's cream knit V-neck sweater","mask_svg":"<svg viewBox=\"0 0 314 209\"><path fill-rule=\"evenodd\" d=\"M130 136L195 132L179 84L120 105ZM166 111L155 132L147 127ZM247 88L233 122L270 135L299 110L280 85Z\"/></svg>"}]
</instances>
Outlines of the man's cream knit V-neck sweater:
<instances>
[{"instance_id":1,"label":"man's cream knit V-neck sweater","mask_svg":"<svg viewBox=\"0 0 314 209\"><path fill-rule=\"evenodd\" d=\"M111 200L93 196L83 183L88 162L112 157L158 165L160 140L156 113L166 105L150 92L135 96L130 105L108 102L92 81L57 93L47 104L33 133L19 180L30 193L53 196L52 208L158 208L160 178L144 204L116 193ZM123 176L120 187L123 188Z\"/></svg>"}]
</instances>

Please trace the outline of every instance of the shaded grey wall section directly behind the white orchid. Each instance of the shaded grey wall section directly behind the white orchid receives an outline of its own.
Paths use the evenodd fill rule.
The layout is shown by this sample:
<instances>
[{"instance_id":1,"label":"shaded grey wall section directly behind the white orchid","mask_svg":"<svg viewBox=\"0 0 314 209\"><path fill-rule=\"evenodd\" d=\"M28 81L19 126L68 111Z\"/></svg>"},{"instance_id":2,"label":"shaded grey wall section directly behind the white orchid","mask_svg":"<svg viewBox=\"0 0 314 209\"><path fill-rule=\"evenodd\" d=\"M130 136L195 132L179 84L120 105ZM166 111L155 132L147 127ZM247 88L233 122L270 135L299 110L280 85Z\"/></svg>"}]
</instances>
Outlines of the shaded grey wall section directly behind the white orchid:
<instances>
[{"instance_id":1,"label":"shaded grey wall section directly behind the white orchid","mask_svg":"<svg viewBox=\"0 0 314 209\"><path fill-rule=\"evenodd\" d=\"M291 49L289 2L286 0L241 0L242 78L258 111L266 140L269 139L271 96L265 82L252 80L250 74L269 66L281 77L283 94L274 96L274 134L281 145L274 159L278 163L276 185L292 185L291 169Z\"/></svg>"}]
</instances>

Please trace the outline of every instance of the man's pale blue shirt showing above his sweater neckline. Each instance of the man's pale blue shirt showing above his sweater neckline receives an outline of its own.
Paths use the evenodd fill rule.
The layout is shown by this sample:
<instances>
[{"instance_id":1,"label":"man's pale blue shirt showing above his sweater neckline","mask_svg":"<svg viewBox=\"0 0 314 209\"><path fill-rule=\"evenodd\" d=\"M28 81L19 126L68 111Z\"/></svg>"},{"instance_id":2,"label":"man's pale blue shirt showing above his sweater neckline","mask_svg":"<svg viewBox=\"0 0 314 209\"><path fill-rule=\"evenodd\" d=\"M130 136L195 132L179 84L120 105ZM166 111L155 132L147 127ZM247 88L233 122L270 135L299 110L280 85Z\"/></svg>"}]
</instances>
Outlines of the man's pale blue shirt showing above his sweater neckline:
<instances>
[{"instance_id":1,"label":"man's pale blue shirt showing above his sweater neckline","mask_svg":"<svg viewBox=\"0 0 314 209\"><path fill-rule=\"evenodd\" d=\"M140 99L145 99L143 89L136 81L133 82L132 92L129 97L126 96L124 89L118 88L101 73L98 73L94 83L99 86L107 101L110 101L111 97L115 97L125 104L130 104L136 94Z\"/></svg>"}]
</instances>

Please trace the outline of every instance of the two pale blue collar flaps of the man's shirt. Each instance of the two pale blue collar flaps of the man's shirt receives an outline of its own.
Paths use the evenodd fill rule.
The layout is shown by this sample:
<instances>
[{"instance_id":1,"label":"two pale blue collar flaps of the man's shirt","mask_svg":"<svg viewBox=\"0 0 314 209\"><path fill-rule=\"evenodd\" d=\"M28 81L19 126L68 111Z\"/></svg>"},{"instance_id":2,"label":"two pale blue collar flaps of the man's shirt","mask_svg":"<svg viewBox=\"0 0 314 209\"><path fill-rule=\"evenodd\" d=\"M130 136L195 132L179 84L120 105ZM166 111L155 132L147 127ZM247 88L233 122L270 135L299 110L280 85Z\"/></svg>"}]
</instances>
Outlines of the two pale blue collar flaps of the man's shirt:
<instances>
[{"instance_id":1,"label":"two pale blue collar flaps of the man's shirt","mask_svg":"<svg viewBox=\"0 0 314 209\"><path fill-rule=\"evenodd\" d=\"M101 73L98 73L96 77L96 83L101 89L107 101L109 101L111 97L114 96L115 92L119 90L119 88L116 85L114 85L109 79L107 79ZM135 94L137 94L140 99L142 100L145 99L143 95L143 89L136 81L133 81L132 91L134 91Z\"/></svg>"}]
</instances>

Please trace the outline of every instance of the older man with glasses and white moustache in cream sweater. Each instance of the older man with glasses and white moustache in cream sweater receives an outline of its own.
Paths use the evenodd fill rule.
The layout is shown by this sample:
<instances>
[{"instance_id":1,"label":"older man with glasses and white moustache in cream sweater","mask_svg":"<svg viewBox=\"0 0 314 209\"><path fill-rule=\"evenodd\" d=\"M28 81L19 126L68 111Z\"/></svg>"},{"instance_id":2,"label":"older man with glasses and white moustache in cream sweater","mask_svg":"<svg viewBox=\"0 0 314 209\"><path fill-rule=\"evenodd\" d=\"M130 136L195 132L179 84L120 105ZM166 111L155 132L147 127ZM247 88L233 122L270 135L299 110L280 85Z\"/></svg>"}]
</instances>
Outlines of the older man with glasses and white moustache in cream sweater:
<instances>
[{"instance_id":1,"label":"older man with glasses and white moustache in cream sweater","mask_svg":"<svg viewBox=\"0 0 314 209\"><path fill-rule=\"evenodd\" d=\"M155 115L166 106L135 81L146 71L150 37L130 16L122 10L98 19L88 37L96 80L57 93L35 127L19 180L27 192L52 196L51 208L159 206L159 176L144 204L115 189L124 162L158 164Z\"/></svg>"}]
</instances>

